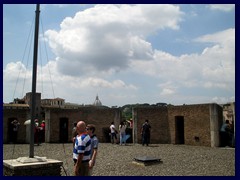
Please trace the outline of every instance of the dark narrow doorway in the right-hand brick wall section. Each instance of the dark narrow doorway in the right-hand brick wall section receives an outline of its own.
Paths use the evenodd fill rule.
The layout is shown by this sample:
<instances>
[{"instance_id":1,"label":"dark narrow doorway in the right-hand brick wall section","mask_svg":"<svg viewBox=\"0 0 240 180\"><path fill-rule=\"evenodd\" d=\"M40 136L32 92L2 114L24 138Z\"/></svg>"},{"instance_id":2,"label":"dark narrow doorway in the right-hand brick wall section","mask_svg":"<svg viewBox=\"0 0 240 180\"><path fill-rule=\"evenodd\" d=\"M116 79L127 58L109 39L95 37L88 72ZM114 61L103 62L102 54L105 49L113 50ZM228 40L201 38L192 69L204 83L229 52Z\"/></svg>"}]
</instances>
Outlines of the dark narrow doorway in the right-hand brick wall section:
<instances>
[{"instance_id":1,"label":"dark narrow doorway in the right-hand brick wall section","mask_svg":"<svg viewBox=\"0 0 240 180\"><path fill-rule=\"evenodd\" d=\"M184 116L175 116L175 144L184 144Z\"/></svg>"}]
</instances>

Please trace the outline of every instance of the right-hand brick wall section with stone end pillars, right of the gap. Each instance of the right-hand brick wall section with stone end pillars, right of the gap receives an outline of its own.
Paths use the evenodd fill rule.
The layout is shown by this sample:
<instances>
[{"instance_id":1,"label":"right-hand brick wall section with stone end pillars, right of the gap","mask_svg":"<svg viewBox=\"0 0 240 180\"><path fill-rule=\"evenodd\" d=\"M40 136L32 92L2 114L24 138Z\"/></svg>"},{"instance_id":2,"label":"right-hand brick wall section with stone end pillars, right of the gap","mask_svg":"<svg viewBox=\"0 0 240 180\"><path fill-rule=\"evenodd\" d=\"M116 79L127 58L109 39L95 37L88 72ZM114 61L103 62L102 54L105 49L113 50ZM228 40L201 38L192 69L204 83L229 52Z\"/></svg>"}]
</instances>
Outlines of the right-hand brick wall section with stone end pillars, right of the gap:
<instances>
[{"instance_id":1,"label":"right-hand brick wall section with stone end pillars, right of the gap","mask_svg":"<svg viewBox=\"0 0 240 180\"><path fill-rule=\"evenodd\" d=\"M222 108L217 104L144 107L136 108L133 114L137 124L134 131L136 143L141 143L140 129L148 119L152 127L150 143L219 145ZM178 127L178 119L182 121L182 127Z\"/></svg>"}]
</instances>

